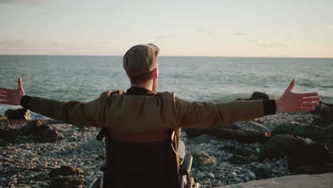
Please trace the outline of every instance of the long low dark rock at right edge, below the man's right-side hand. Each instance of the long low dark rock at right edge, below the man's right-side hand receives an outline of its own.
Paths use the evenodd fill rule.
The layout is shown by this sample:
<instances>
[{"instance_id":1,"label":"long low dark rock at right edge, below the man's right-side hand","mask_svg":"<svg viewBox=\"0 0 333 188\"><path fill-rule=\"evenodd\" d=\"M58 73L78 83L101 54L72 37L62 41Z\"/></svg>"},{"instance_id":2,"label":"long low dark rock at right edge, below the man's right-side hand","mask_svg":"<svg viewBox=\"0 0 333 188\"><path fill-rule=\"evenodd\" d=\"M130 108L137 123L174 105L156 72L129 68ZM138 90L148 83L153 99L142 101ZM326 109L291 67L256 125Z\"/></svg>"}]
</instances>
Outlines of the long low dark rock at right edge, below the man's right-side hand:
<instances>
[{"instance_id":1,"label":"long low dark rock at right edge, below the man's right-side hand","mask_svg":"<svg viewBox=\"0 0 333 188\"><path fill-rule=\"evenodd\" d=\"M312 125L300 125L296 122L290 124L282 124L275 127L271 134L274 135L294 135L312 140L327 140L333 135L333 129L327 130L324 127L312 126Z\"/></svg>"}]
</instances>

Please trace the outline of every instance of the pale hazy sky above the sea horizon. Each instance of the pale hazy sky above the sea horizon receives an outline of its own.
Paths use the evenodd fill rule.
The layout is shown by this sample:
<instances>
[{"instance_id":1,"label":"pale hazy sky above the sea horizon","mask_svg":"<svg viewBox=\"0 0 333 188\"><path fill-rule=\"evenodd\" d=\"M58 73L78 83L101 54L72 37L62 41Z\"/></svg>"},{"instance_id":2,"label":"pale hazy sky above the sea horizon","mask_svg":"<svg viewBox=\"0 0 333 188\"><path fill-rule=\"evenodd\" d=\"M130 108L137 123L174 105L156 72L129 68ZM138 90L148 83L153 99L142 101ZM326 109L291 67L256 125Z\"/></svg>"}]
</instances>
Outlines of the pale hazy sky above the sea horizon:
<instances>
[{"instance_id":1,"label":"pale hazy sky above the sea horizon","mask_svg":"<svg viewBox=\"0 0 333 188\"><path fill-rule=\"evenodd\" d=\"M0 0L0 54L333 57L332 0Z\"/></svg>"}]
</instances>

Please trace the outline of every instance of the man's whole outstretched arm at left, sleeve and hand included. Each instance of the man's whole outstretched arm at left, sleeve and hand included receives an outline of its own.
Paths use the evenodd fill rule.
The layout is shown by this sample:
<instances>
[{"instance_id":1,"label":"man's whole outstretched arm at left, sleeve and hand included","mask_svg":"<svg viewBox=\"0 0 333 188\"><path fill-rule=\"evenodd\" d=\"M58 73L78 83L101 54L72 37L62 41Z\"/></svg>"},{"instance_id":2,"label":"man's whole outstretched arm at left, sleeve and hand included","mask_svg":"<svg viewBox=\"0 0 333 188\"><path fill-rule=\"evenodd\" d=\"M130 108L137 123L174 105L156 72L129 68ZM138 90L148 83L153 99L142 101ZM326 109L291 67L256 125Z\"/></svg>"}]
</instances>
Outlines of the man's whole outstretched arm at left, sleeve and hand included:
<instances>
[{"instance_id":1,"label":"man's whole outstretched arm at left, sleeve and hand included","mask_svg":"<svg viewBox=\"0 0 333 188\"><path fill-rule=\"evenodd\" d=\"M103 93L100 98L88 103L29 97L24 93L21 78L18 78L16 89L0 88L0 99L1 104L22 105L35 113L63 120L73 125L101 127L102 117L97 109L102 109L99 105L106 103L107 94Z\"/></svg>"}]
</instances>

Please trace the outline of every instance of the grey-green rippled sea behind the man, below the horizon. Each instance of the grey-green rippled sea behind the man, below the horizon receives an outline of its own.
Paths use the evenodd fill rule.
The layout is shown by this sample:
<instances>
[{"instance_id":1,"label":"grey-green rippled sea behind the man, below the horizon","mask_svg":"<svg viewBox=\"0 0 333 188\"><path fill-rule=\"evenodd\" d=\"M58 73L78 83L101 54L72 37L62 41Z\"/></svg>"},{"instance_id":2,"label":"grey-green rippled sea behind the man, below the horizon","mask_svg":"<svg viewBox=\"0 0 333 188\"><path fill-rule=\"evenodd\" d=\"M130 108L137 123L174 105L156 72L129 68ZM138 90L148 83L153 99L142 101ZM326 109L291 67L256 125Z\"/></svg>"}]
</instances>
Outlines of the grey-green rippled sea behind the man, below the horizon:
<instances>
[{"instance_id":1,"label":"grey-green rippled sea behind the man, below the horizon","mask_svg":"<svg viewBox=\"0 0 333 188\"><path fill-rule=\"evenodd\" d=\"M18 77L26 95L64 101L130 86L122 56L0 56L0 87L16 88ZM255 91L279 98L293 78L295 93L333 103L333 58L159 57L159 91L191 101L225 103ZM0 115L16 108L0 105Z\"/></svg>"}]
</instances>

